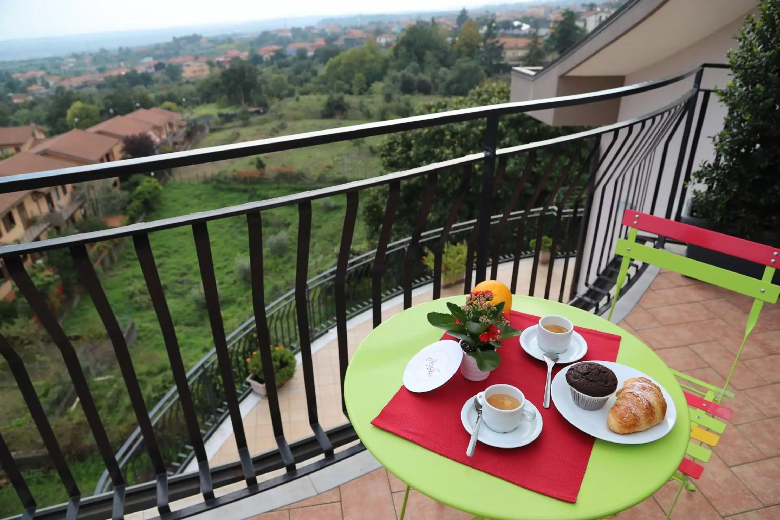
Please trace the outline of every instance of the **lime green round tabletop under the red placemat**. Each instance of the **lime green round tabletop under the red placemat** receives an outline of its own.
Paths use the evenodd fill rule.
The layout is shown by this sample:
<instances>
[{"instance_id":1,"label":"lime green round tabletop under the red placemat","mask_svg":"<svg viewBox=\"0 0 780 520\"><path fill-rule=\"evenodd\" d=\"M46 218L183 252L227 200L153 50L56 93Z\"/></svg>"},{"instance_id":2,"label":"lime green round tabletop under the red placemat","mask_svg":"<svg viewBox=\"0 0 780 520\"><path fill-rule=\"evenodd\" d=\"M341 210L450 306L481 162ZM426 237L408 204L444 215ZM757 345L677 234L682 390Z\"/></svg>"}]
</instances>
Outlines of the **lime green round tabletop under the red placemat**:
<instances>
[{"instance_id":1,"label":"lime green round tabletop under the red placemat","mask_svg":"<svg viewBox=\"0 0 780 520\"><path fill-rule=\"evenodd\" d=\"M688 406L671 371L655 352L617 325L546 299L514 296L512 310L559 314L580 327L619 334L617 362L654 377L677 407L674 428L655 442L625 445L597 439L576 504L526 490L372 426L371 420L401 387L406 363L420 348L441 338L442 331L428 324L427 313L447 312L445 302L462 305L465 299L438 299L396 314L368 334L349 363L345 396L349 419L368 451L388 471L435 501L493 520L605 518L644 501L668 481L683 460L690 437Z\"/></svg>"}]
</instances>

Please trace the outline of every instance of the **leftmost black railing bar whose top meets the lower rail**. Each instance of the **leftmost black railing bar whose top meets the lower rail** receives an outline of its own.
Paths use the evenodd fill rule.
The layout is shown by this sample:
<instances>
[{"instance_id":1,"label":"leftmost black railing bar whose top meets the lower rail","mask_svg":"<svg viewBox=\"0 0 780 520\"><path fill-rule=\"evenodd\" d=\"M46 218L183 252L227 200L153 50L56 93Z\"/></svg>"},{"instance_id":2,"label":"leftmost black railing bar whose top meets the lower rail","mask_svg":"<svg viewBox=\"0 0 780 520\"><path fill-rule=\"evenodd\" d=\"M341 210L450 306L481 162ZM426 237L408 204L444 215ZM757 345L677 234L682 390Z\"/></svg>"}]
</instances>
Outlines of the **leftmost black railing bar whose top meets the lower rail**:
<instances>
[{"instance_id":1,"label":"leftmost black railing bar whose top meets the lower rail","mask_svg":"<svg viewBox=\"0 0 780 520\"><path fill-rule=\"evenodd\" d=\"M76 395L79 397L84 416L87 417L87 423L90 426L95 444L97 444L97 449L100 451L105 467L108 469L108 474L111 476L113 486L115 488L123 486L125 484L125 479L119 469L119 463L116 462L111 441L108 440L108 435L105 433L100 414L97 412L97 407L95 406L94 399L90 393L90 387L87 384L87 377L84 376L84 372L81 369L81 363L79 362L78 356L76 356L76 350L70 343L65 331L62 331L62 327L57 321L57 318L51 313L46 302L44 302L43 296L38 292L33 281L30 279L30 275L25 271L21 258L19 256L7 256L3 260L5 260L5 267L8 268L16 286L19 288L20 292L22 292L24 298L27 299L30 307L32 307L34 313L37 314L41 325L44 326L51 337L51 340L54 341L60 354L62 354L62 359L65 361L66 368L70 374L70 379L73 382L73 387L76 389Z\"/></svg>"}]
</instances>

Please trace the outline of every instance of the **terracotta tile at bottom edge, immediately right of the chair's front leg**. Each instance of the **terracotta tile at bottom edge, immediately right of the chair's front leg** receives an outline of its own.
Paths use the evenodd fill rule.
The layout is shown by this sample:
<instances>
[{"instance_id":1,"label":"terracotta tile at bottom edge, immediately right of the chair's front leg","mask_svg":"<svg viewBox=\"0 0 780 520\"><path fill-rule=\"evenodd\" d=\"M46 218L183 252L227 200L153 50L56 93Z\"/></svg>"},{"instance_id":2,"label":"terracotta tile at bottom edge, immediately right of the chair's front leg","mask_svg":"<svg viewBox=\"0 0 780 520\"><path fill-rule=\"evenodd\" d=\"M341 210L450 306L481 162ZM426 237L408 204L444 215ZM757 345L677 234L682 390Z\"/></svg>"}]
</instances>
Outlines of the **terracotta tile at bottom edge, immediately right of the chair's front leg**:
<instances>
[{"instance_id":1,"label":"terracotta tile at bottom edge, immediately right of the chair's front leg","mask_svg":"<svg viewBox=\"0 0 780 520\"><path fill-rule=\"evenodd\" d=\"M722 516L752 511L763 505L718 455L712 455L704 465L704 473L696 485Z\"/></svg>"}]
</instances>

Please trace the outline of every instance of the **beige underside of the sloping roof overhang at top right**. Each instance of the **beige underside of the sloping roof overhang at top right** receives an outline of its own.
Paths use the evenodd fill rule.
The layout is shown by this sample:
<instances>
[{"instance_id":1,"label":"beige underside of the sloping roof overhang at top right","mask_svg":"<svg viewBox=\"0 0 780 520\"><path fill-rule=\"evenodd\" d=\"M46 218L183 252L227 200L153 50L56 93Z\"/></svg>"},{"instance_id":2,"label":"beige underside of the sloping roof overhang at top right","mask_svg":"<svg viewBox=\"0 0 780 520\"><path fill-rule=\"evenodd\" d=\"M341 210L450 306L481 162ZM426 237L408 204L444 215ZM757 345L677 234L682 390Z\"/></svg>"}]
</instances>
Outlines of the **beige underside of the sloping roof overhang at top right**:
<instances>
[{"instance_id":1,"label":"beige underside of the sloping roof overhang at top right","mask_svg":"<svg viewBox=\"0 0 780 520\"><path fill-rule=\"evenodd\" d=\"M668 0L566 76L626 76L704 39L756 7L756 0ZM613 24L617 26L617 24ZM614 30L605 27L605 31Z\"/></svg>"}]
</instances>

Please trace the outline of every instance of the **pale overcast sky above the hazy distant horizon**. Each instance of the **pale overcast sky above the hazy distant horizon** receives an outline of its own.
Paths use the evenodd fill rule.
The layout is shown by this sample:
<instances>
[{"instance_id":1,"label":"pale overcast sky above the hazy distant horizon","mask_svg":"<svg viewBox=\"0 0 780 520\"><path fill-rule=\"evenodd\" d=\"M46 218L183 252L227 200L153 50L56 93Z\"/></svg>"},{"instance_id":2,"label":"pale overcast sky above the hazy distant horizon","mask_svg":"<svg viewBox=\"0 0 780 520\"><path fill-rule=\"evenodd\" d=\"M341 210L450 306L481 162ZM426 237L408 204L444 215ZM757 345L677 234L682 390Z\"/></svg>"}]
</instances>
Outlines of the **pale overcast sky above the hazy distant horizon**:
<instances>
[{"instance_id":1,"label":"pale overcast sky above the hazy distant horizon","mask_svg":"<svg viewBox=\"0 0 780 520\"><path fill-rule=\"evenodd\" d=\"M462 6L463 0L0 0L0 40Z\"/></svg>"}]
</instances>

